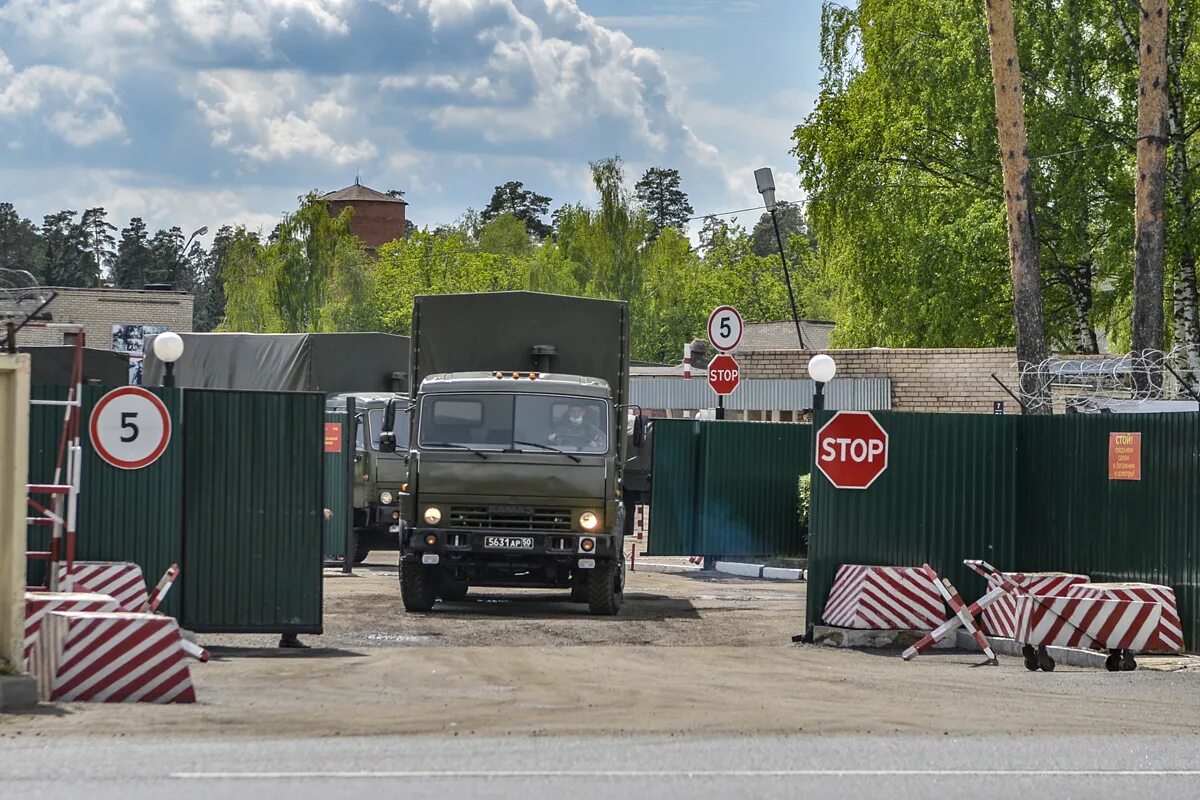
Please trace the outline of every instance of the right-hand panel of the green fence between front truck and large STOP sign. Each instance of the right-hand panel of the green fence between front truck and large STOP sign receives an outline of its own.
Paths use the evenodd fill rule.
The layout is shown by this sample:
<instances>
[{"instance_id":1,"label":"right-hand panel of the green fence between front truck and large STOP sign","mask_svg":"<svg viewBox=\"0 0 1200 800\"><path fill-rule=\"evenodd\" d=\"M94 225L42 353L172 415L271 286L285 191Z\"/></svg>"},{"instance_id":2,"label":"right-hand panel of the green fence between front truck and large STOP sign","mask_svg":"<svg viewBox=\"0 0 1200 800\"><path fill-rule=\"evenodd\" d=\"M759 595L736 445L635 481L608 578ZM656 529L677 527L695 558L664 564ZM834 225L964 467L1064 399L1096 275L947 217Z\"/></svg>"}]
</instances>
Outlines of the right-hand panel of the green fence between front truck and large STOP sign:
<instances>
[{"instance_id":1,"label":"right-hand panel of the green fence between front truck and large STOP sign","mask_svg":"<svg viewBox=\"0 0 1200 800\"><path fill-rule=\"evenodd\" d=\"M812 468L812 426L704 422L700 432L701 511L692 553L798 555L796 489Z\"/></svg>"}]
</instances>

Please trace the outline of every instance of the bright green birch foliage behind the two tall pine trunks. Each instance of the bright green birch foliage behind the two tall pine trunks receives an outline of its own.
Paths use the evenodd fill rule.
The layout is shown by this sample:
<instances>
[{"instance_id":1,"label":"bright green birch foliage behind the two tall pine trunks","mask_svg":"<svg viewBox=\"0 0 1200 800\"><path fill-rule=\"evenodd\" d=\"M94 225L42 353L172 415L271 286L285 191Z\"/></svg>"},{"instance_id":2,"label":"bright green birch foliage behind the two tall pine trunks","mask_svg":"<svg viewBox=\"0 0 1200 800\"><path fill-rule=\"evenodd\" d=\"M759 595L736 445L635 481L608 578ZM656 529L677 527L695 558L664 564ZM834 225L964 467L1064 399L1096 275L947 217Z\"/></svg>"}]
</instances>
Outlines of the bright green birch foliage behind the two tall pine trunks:
<instances>
[{"instance_id":1,"label":"bright green birch foliage behind the two tall pine trunks","mask_svg":"<svg viewBox=\"0 0 1200 800\"><path fill-rule=\"evenodd\" d=\"M846 4L850 5L850 4ZM822 14L821 95L794 132L818 248L809 253L848 345L1013 341L988 31L977 4L860 0ZM1196 103L1187 22L1172 4L1172 98ZM1034 203L1051 347L1124 348L1132 293L1136 32L1118 0L1018 2ZM1122 30L1122 22L1126 29ZM1183 37L1183 38L1181 38ZM1172 100L1174 102L1174 100ZM1194 118L1193 118L1194 119ZM1196 128L1169 161L1194 186ZM1187 258L1194 200L1168 192L1169 270ZM1182 224L1181 224L1182 221ZM1194 300L1194 288L1190 289Z\"/></svg>"}]
</instances>

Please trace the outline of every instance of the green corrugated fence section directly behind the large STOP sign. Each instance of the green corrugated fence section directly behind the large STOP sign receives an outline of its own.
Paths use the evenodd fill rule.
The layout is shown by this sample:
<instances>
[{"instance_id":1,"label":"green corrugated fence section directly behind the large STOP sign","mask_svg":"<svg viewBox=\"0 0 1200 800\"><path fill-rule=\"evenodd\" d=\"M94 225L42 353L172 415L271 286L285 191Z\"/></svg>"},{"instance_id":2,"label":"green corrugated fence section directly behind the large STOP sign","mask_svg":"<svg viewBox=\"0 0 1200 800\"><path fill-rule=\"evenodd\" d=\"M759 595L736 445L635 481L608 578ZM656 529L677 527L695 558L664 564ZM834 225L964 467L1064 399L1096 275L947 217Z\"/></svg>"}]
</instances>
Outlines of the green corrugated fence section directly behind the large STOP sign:
<instances>
[{"instance_id":1,"label":"green corrugated fence section directly behind the large STOP sign","mask_svg":"<svg viewBox=\"0 0 1200 800\"><path fill-rule=\"evenodd\" d=\"M818 414L820 427L832 411ZM821 620L841 564L932 565L971 599L983 579L962 559L1014 557L1018 417L877 413L888 468L866 489L812 474L808 624ZM656 522L656 521L655 521Z\"/></svg>"}]
</instances>

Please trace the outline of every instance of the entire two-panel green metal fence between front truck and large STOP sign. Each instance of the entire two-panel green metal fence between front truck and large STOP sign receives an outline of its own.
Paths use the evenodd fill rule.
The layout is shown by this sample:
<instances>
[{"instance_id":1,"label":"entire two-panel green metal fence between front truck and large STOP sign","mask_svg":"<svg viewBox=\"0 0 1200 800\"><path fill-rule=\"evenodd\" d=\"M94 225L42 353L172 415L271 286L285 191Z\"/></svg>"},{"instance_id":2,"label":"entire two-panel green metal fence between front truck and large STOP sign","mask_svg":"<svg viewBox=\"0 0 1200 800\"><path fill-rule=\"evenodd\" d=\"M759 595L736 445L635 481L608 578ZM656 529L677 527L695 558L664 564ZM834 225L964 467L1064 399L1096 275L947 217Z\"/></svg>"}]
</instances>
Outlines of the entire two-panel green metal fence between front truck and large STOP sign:
<instances>
[{"instance_id":1,"label":"entire two-panel green metal fence between front truck and large STOP sign","mask_svg":"<svg viewBox=\"0 0 1200 800\"><path fill-rule=\"evenodd\" d=\"M762 422L654 422L654 555L776 555L802 549L796 485L812 428Z\"/></svg>"}]
</instances>

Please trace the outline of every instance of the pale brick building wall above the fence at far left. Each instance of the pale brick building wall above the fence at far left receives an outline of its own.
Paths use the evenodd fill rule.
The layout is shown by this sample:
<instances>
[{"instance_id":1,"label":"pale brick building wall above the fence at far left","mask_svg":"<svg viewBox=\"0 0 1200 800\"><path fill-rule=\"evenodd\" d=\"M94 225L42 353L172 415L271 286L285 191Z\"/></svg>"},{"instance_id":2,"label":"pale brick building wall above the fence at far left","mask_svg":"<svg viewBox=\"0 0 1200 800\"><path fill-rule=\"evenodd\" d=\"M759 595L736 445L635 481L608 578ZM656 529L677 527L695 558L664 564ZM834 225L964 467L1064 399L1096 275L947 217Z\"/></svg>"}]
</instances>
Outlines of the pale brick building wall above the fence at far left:
<instances>
[{"instance_id":1,"label":"pale brick building wall above the fence at far left","mask_svg":"<svg viewBox=\"0 0 1200 800\"><path fill-rule=\"evenodd\" d=\"M187 291L143 289L55 289L50 303L53 323L83 324L88 347L108 350L113 325L164 325L181 333L192 330L192 295ZM64 332L53 327L26 327L17 335L22 345L64 344Z\"/></svg>"}]
</instances>

